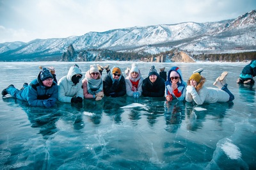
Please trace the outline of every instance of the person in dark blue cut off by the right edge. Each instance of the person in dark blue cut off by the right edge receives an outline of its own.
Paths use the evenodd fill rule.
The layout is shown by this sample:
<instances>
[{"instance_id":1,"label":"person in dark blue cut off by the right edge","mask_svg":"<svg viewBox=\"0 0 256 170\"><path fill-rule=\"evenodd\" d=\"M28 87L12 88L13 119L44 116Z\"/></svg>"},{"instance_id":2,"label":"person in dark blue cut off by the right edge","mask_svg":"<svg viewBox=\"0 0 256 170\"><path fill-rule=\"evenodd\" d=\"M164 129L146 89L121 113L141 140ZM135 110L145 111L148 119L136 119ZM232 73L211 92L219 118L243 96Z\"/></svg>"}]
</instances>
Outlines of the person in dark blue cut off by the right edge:
<instances>
[{"instance_id":1,"label":"person in dark blue cut off by the right edge","mask_svg":"<svg viewBox=\"0 0 256 170\"><path fill-rule=\"evenodd\" d=\"M253 77L256 76L256 60L252 60L249 65L244 66L237 83L254 84Z\"/></svg>"}]
</instances>

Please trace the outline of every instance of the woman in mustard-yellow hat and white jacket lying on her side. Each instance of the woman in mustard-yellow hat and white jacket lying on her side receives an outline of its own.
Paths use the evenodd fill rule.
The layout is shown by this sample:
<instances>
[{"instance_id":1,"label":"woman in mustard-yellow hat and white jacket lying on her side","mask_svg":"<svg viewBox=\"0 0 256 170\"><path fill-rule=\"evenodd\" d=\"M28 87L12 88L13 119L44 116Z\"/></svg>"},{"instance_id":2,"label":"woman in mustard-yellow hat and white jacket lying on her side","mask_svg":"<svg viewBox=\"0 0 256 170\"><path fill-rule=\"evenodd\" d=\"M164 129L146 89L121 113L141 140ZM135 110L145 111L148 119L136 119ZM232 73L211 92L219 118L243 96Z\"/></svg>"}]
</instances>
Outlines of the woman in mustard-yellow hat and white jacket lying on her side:
<instances>
[{"instance_id":1,"label":"woman in mustard-yellow hat and white jacket lying on her side","mask_svg":"<svg viewBox=\"0 0 256 170\"><path fill-rule=\"evenodd\" d=\"M206 88L205 77L200 73L193 73L188 80L186 88L186 101L195 102L198 105L204 103L229 102L234 100L234 95L228 90L226 76L228 72L221 73L221 76L213 83L216 88Z\"/></svg>"}]
</instances>

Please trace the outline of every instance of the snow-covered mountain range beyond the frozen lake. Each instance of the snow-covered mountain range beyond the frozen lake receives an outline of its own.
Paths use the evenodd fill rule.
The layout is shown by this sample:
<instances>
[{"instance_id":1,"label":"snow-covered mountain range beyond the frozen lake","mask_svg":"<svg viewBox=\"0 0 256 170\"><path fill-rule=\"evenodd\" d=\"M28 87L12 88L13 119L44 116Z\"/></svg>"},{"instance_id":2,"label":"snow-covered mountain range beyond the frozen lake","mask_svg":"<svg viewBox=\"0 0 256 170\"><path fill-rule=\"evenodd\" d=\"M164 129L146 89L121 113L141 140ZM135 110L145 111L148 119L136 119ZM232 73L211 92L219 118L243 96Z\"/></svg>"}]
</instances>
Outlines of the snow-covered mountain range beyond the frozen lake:
<instances>
[{"instance_id":1,"label":"snow-covered mountain range beyond the frozen lake","mask_svg":"<svg viewBox=\"0 0 256 170\"><path fill-rule=\"evenodd\" d=\"M129 27L68 38L2 43L0 61L28 56L61 56L70 44L75 50L109 49L151 54L172 49L186 50L191 54L252 51L256 50L256 10L220 22Z\"/></svg>"}]
</instances>

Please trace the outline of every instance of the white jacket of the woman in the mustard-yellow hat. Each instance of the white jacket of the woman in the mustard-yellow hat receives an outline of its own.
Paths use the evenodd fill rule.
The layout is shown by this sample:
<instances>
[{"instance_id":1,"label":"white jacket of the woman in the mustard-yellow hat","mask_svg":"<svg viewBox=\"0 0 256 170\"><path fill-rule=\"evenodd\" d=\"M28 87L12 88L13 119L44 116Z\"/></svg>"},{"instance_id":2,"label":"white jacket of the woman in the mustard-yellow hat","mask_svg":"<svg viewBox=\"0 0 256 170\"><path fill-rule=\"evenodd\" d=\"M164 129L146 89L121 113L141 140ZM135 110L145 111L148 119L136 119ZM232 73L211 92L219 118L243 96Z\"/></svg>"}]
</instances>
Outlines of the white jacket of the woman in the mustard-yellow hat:
<instances>
[{"instance_id":1,"label":"white jacket of the woman in the mustard-yellow hat","mask_svg":"<svg viewBox=\"0 0 256 170\"><path fill-rule=\"evenodd\" d=\"M201 81L198 83L196 88L193 88L188 81L187 88L193 88L191 93L189 93L188 89L186 91L186 101L193 102L195 101L196 104L202 105L204 103L216 103L216 102L228 102L229 95L222 89L216 88L206 88L204 86L206 79L202 76ZM190 86L190 87L189 87Z\"/></svg>"}]
</instances>

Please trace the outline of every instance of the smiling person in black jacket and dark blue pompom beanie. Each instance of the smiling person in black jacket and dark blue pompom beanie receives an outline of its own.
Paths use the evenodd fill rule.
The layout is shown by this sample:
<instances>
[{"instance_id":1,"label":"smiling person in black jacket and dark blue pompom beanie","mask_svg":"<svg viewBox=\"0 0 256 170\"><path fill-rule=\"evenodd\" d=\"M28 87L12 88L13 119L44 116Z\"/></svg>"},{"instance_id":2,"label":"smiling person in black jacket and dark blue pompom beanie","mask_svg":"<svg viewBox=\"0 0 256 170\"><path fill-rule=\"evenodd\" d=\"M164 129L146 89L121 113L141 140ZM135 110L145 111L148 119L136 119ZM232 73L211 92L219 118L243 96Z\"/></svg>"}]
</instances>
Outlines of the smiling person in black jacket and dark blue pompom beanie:
<instances>
[{"instance_id":1,"label":"smiling person in black jacket and dark blue pompom beanie","mask_svg":"<svg viewBox=\"0 0 256 170\"><path fill-rule=\"evenodd\" d=\"M155 66L151 66L148 77L142 82L144 97L164 97L164 79L159 76Z\"/></svg>"}]
</instances>

